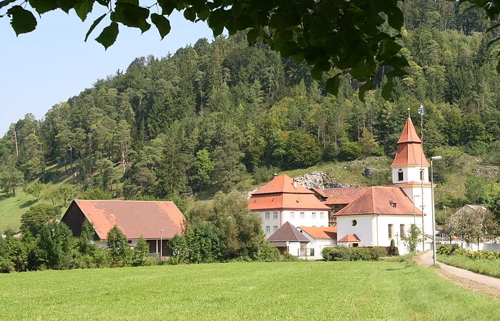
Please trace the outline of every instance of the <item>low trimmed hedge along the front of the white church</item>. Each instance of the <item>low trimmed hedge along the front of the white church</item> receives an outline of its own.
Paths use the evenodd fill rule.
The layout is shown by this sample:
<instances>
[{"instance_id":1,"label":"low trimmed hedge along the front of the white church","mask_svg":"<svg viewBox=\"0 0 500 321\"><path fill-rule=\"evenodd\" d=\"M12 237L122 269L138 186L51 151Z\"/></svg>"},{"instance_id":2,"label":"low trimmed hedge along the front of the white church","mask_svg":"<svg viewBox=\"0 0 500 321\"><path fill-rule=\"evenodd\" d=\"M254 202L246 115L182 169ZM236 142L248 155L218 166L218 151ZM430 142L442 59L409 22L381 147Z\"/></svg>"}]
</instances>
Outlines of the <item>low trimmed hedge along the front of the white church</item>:
<instances>
[{"instance_id":1,"label":"low trimmed hedge along the front of the white church","mask_svg":"<svg viewBox=\"0 0 500 321\"><path fill-rule=\"evenodd\" d=\"M376 261L381 257L399 255L395 246L374 246L366 248L348 248L344 245L336 245L321 250L326 261Z\"/></svg>"}]
</instances>

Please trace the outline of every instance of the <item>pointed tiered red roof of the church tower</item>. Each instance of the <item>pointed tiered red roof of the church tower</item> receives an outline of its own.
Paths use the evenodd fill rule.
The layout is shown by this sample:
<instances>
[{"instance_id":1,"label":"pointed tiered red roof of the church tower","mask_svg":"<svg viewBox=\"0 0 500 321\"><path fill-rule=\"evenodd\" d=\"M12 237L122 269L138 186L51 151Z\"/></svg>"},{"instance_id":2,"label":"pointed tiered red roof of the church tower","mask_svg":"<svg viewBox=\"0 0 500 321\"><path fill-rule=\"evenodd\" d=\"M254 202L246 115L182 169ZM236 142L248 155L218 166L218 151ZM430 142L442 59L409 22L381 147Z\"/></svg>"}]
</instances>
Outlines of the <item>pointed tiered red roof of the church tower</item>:
<instances>
[{"instance_id":1,"label":"pointed tiered red roof of the church tower","mask_svg":"<svg viewBox=\"0 0 500 321\"><path fill-rule=\"evenodd\" d=\"M411 119L406 119L403 133L398 141L398 149L392 166L427 165L429 162L422 151L422 141L416 134Z\"/></svg>"}]
</instances>

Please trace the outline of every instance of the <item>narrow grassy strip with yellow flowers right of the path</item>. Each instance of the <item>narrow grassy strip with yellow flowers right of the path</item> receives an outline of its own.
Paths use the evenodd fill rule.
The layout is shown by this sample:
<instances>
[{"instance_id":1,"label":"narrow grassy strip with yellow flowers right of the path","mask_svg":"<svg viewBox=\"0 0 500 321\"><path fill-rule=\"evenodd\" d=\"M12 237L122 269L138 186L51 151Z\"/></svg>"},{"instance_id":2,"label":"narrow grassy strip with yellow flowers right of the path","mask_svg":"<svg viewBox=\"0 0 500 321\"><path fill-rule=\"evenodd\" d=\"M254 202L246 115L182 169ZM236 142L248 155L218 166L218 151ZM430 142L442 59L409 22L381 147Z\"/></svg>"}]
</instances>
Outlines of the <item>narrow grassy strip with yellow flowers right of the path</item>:
<instances>
[{"instance_id":1,"label":"narrow grassy strip with yellow flowers right of the path","mask_svg":"<svg viewBox=\"0 0 500 321\"><path fill-rule=\"evenodd\" d=\"M500 260L472 259L464 255L438 255L437 259L447 265L500 278Z\"/></svg>"}]
</instances>

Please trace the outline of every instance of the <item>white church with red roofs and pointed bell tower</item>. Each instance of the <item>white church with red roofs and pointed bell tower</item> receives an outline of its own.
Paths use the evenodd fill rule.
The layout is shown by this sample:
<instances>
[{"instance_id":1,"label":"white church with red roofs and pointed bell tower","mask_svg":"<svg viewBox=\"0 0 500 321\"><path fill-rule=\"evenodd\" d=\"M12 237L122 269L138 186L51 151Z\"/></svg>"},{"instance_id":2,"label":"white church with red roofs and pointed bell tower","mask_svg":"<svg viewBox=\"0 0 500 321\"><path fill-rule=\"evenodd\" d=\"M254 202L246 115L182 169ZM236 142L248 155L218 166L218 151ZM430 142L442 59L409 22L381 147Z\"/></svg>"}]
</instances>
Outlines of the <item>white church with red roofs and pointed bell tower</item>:
<instances>
[{"instance_id":1,"label":"white church with red roofs and pointed bell tower","mask_svg":"<svg viewBox=\"0 0 500 321\"><path fill-rule=\"evenodd\" d=\"M397 143L391 184L324 190L329 195L324 203L332 209L331 223L338 230L337 243L389 246L394 240L399 252L407 253L404 239L412 224L433 234L429 162L410 118Z\"/></svg>"}]
</instances>

